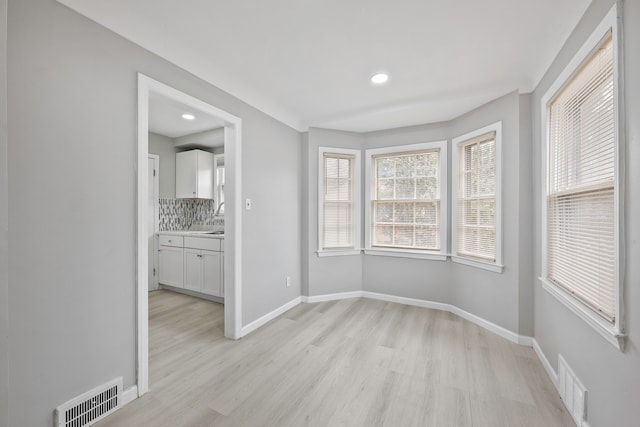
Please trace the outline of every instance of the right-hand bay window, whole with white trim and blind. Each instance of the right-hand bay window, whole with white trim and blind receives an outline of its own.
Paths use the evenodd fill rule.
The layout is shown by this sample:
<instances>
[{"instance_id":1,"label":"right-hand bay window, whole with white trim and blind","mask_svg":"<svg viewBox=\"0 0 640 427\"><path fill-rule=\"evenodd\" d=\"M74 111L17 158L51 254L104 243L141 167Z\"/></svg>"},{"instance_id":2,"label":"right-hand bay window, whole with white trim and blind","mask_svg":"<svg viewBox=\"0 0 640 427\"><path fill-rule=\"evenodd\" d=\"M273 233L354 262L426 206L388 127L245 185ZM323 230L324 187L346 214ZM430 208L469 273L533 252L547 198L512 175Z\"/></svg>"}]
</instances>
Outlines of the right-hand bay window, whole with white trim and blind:
<instances>
[{"instance_id":1,"label":"right-hand bay window, whole with white trim and blind","mask_svg":"<svg viewBox=\"0 0 640 427\"><path fill-rule=\"evenodd\" d=\"M452 260L502 272L502 122L453 139Z\"/></svg>"}]
</instances>

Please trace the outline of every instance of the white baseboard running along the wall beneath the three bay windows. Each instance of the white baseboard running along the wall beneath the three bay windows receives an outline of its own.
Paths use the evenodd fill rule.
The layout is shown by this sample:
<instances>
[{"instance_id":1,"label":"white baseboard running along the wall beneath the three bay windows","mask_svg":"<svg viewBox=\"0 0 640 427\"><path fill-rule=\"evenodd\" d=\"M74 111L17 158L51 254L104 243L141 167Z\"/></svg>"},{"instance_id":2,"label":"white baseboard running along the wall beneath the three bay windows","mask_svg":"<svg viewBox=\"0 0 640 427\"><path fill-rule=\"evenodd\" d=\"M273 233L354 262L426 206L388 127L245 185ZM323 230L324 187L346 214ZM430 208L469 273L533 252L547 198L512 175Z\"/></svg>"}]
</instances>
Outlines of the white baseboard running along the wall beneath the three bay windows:
<instances>
[{"instance_id":1,"label":"white baseboard running along the wall beneath the three bay windows","mask_svg":"<svg viewBox=\"0 0 640 427\"><path fill-rule=\"evenodd\" d=\"M416 298L406 298L399 297L395 295L388 294L379 294L376 292L367 292L367 291L354 291L354 292L342 292L336 294L326 294L326 295L316 295L312 297L302 297L302 302L304 303L315 303L315 302L324 302L324 301L334 301L339 299L347 299L347 298L371 298L380 301L388 301L395 302L398 304L406 304L413 305L416 307L424 307L430 308L433 310L441 310L448 311L450 313L456 314L463 319L466 319L476 325L485 328L496 335L499 335L513 343L524 345L527 347L532 346L532 338L524 335L518 335L515 332L511 332L508 329L503 328L502 326L496 325L495 323L489 322L481 317L476 316L475 314L471 314L467 311L462 310L461 308L456 307L451 304L444 304L441 302L427 301Z\"/></svg>"}]
</instances>

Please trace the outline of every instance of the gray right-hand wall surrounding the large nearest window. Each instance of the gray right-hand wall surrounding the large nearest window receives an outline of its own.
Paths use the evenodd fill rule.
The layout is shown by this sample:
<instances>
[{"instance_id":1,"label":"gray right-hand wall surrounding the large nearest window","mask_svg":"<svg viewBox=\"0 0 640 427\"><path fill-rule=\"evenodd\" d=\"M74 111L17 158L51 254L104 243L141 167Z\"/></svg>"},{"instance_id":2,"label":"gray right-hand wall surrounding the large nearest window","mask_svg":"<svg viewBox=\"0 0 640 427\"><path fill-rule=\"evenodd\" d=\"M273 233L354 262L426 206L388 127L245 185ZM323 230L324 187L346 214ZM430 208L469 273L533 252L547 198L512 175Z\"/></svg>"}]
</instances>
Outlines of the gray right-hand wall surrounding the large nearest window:
<instances>
[{"instance_id":1,"label":"gray right-hand wall surrounding the large nearest window","mask_svg":"<svg viewBox=\"0 0 640 427\"><path fill-rule=\"evenodd\" d=\"M541 98L592 30L614 4L594 0L533 94L534 171L540 194ZM625 2L624 73L626 75L627 153L625 197L625 307L629 338L622 353L560 304L539 284L535 286L535 338L554 369L558 354L566 359L588 391L591 427L638 425L640 395L640 2ZM535 199L535 276L541 274L540 198Z\"/></svg>"}]
</instances>

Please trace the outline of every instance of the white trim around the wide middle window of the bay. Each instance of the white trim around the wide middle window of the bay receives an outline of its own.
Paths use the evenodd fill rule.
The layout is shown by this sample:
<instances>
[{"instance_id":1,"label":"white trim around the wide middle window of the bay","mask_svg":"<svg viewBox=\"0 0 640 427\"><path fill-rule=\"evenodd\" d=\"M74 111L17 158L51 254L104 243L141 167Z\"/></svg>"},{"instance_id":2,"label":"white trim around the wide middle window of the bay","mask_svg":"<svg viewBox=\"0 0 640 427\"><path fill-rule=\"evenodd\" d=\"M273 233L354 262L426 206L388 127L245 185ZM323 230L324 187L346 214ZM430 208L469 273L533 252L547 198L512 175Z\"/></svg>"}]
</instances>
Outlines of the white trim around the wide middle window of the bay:
<instances>
[{"instance_id":1,"label":"white trim around the wide middle window of the bay","mask_svg":"<svg viewBox=\"0 0 640 427\"><path fill-rule=\"evenodd\" d=\"M373 173L374 156L380 154L402 154L412 151L440 149L440 250L416 250L401 248L378 248L371 246L371 203L375 190L375 175ZM364 253L366 255L381 255L400 258L418 258L436 261L446 261L448 257L447 226L448 226L448 180L447 180L447 141L423 142L408 145L396 145L391 147L374 148L365 151L365 206L364 206Z\"/></svg>"}]
</instances>

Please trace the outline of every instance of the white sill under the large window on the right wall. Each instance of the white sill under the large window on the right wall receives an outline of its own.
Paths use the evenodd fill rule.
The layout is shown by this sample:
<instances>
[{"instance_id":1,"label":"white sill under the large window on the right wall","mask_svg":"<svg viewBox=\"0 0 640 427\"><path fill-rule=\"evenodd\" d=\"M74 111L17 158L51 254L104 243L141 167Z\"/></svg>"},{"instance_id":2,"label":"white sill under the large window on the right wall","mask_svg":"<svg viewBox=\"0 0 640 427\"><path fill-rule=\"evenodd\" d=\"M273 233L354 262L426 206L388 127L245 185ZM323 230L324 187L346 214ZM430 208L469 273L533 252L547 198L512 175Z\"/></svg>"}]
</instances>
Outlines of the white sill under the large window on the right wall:
<instances>
[{"instance_id":1,"label":"white sill under the large window on the right wall","mask_svg":"<svg viewBox=\"0 0 640 427\"><path fill-rule=\"evenodd\" d=\"M568 292L557 287L548 280L539 277L538 280L542 283L542 288L556 298L560 303L566 306L579 318L584 320L589 326L596 330L607 342L613 345L618 350L624 352L624 346L627 336L621 333L618 329L618 325L612 325L605 319L597 315L591 308L581 303Z\"/></svg>"}]
</instances>

